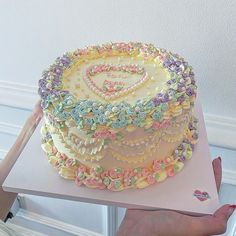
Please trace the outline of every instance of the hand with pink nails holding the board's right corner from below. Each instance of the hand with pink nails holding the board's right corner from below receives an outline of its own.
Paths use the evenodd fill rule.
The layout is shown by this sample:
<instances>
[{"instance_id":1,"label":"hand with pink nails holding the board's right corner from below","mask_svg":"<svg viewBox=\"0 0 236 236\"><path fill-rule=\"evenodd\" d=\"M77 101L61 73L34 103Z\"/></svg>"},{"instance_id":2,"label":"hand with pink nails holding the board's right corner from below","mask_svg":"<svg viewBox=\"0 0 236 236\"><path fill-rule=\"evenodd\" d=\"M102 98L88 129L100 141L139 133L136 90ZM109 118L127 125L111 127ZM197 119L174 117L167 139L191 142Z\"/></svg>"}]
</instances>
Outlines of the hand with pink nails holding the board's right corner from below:
<instances>
[{"instance_id":1,"label":"hand with pink nails holding the board's right corner from below","mask_svg":"<svg viewBox=\"0 0 236 236\"><path fill-rule=\"evenodd\" d=\"M221 159L212 162L219 192L222 168ZM224 205L213 215L189 216L170 210L127 209L117 236L207 236L226 231L227 221L236 205Z\"/></svg>"}]
</instances>

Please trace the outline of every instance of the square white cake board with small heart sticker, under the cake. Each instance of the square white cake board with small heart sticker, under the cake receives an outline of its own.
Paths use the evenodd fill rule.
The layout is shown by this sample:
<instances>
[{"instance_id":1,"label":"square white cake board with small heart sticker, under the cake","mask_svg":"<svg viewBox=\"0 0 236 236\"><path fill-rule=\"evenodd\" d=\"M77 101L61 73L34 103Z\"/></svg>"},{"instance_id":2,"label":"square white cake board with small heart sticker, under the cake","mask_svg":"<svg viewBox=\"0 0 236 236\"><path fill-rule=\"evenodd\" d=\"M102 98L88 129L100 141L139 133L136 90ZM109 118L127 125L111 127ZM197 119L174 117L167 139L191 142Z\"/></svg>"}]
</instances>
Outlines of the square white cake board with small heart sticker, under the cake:
<instances>
[{"instance_id":1,"label":"square white cake board with small heart sticker, under the cake","mask_svg":"<svg viewBox=\"0 0 236 236\"><path fill-rule=\"evenodd\" d=\"M61 178L48 163L46 154L41 149L39 123L3 183L3 189L126 208L162 208L194 214L212 214L219 207L219 200L199 103L195 107L195 116L199 119L199 142L195 145L192 159L185 161L180 173L162 183L145 189L128 189L121 192L78 187L74 181ZM193 196L195 190L206 191L210 199L198 200Z\"/></svg>"}]
</instances>

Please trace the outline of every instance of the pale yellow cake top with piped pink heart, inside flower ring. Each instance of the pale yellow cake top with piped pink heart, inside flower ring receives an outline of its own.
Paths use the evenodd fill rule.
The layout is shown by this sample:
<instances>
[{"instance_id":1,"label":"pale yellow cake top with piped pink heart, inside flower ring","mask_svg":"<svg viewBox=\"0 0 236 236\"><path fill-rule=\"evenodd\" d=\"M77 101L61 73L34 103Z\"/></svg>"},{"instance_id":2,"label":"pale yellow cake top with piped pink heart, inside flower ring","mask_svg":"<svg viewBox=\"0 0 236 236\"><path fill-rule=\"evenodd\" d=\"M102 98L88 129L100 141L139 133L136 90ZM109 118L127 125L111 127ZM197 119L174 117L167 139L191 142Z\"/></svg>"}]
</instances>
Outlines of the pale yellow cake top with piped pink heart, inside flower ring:
<instances>
[{"instance_id":1,"label":"pale yellow cake top with piped pink heart, inside flower ring","mask_svg":"<svg viewBox=\"0 0 236 236\"><path fill-rule=\"evenodd\" d=\"M132 50L125 44L111 46L112 50L80 50L81 56L62 74L63 88L77 99L112 104L124 100L135 104L138 99L152 98L167 89L170 74L160 60L146 56L138 46ZM158 51L155 53L158 55Z\"/></svg>"}]
</instances>

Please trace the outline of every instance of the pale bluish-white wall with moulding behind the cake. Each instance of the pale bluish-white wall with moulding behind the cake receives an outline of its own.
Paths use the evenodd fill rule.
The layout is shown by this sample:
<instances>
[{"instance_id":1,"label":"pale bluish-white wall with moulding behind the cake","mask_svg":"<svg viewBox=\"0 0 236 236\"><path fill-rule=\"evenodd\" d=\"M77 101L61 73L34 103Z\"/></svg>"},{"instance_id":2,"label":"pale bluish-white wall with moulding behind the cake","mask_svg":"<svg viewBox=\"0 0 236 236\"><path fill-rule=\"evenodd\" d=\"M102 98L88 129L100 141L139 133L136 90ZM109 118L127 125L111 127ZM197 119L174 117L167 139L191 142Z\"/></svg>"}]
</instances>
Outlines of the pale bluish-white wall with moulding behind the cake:
<instances>
[{"instance_id":1,"label":"pale bluish-white wall with moulding behind the cake","mask_svg":"<svg viewBox=\"0 0 236 236\"><path fill-rule=\"evenodd\" d=\"M109 41L151 42L178 52L193 66L212 155L223 157L222 202L233 202L236 199L235 25L234 0L0 0L0 158L39 99L37 81L42 71L57 56ZM21 212L19 225L27 225L27 211L34 212L36 215L27 218L31 218L31 226L32 219L42 223L45 216L58 220L50 221L54 226L77 227L64 235L73 232L85 235L85 231L80 231L84 228L94 235L109 235L105 228L109 223L107 216L115 215L111 209L107 214L109 210L103 206L26 195L21 198L21 207L26 211ZM98 216L96 219L90 217L94 214ZM43 226L40 227L35 225L34 229Z\"/></svg>"}]
</instances>

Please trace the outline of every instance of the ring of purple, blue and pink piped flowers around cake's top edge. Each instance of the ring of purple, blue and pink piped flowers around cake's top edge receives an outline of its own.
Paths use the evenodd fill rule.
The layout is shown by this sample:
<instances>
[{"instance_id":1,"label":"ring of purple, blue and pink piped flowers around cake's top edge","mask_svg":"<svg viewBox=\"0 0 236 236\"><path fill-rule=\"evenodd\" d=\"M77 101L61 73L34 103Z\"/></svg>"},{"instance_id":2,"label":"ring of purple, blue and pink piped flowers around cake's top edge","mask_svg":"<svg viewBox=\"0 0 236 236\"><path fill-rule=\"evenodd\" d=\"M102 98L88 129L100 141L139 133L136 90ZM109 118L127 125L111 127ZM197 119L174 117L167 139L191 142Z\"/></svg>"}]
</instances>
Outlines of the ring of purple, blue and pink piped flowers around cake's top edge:
<instances>
[{"instance_id":1,"label":"ring of purple, blue and pink piped flowers around cake's top edge","mask_svg":"<svg viewBox=\"0 0 236 236\"><path fill-rule=\"evenodd\" d=\"M111 55L139 57L159 63L170 75L168 88L155 97L139 99L135 104L128 102L110 103L93 100L80 100L69 91L63 90L62 79L65 70L79 60ZM193 107L196 98L194 73L182 57L152 44L108 43L91 46L66 53L43 73L39 80L39 94L45 117L56 128L74 126L90 137L97 131L111 132L117 137L121 128L133 130L142 127L156 130ZM125 96L125 95L124 95ZM125 98L124 98L125 100ZM107 139L109 141L109 139Z\"/></svg>"}]
</instances>

